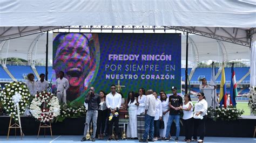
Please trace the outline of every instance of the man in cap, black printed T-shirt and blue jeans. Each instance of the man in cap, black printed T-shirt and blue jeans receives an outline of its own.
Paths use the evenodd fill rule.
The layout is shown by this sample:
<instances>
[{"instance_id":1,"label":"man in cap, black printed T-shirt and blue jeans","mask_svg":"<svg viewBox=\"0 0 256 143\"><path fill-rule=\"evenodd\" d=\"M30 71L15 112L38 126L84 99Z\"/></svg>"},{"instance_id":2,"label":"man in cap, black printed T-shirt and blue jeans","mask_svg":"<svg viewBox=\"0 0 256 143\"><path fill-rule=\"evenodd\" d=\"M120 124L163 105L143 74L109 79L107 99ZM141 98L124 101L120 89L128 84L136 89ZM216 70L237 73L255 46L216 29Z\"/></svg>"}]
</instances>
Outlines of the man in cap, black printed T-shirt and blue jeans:
<instances>
[{"instance_id":1,"label":"man in cap, black printed T-shirt and blue jeans","mask_svg":"<svg viewBox=\"0 0 256 143\"><path fill-rule=\"evenodd\" d=\"M171 131L171 125L172 121L175 120L176 123L176 138L175 141L179 140L179 132L180 132L180 126L179 126L179 119L180 119L180 112L181 106L183 105L182 97L177 95L177 87L172 87L172 94L169 97L169 108L170 108L170 116L167 122L167 128L166 128L166 136L164 140L169 140L169 133Z\"/></svg>"}]
</instances>

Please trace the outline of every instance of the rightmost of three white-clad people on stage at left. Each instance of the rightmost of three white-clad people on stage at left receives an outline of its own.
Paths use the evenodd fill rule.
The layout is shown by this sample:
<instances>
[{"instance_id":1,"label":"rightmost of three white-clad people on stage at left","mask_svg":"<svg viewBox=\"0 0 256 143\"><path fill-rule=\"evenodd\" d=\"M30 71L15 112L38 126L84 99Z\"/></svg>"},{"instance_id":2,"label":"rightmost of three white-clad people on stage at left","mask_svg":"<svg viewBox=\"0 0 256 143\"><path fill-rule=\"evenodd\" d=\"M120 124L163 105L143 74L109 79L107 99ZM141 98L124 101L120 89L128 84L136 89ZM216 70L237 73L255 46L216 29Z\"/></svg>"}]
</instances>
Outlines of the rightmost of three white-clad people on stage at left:
<instances>
[{"instance_id":1,"label":"rightmost of three white-clad people on stage at left","mask_svg":"<svg viewBox=\"0 0 256 143\"><path fill-rule=\"evenodd\" d=\"M59 102L66 104L66 90L69 89L69 81L64 77L63 71L59 71L59 78L56 80L56 88Z\"/></svg>"}]
</instances>

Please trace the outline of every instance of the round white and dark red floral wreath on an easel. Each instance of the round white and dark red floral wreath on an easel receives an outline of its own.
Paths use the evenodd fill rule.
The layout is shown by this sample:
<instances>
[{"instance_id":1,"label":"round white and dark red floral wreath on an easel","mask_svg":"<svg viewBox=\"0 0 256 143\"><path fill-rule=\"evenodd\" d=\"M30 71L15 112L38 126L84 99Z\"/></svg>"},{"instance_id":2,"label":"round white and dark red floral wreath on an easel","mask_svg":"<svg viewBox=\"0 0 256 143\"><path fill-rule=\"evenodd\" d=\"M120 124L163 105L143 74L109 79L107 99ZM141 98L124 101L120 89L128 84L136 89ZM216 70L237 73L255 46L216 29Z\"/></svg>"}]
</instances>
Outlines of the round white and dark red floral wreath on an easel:
<instances>
[{"instance_id":1,"label":"round white and dark red floral wreath on an easel","mask_svg":"<svg viewBox=\"0 0 256 143\"><path fill-rule=\"evenodd\" d=\"M31 102L30 112L37 120L50 122L60 115L58 98L50 92L39 92Z\"/></svg>"}]
</instances>

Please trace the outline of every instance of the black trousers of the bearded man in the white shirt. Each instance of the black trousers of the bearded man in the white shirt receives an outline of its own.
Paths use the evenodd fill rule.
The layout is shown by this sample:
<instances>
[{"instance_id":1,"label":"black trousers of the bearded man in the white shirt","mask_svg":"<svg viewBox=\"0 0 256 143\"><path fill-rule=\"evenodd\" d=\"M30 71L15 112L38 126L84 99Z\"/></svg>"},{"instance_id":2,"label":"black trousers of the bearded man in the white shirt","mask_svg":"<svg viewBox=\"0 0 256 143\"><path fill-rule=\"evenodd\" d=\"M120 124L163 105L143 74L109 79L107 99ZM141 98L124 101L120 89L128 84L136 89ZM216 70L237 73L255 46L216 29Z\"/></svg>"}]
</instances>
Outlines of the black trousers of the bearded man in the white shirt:
<instances>
[{"instance_id":1,"label":"black trousers of the bearded man in the white shirt","mask_svg":"<svg viewBox=\"0 0 256 143\"><path fill-rule=\"evenodd\" d=\"M115 117L113 116L112 120L109 120L109 135L112 135L113 133L113 125L114 125L114 134L118 135L119 134L119 110L117 110L118 116ZM110 110L109 110L109 115L110 115ZM109 117L109 116L108 116Z\"/></svg>"}]
</instances>

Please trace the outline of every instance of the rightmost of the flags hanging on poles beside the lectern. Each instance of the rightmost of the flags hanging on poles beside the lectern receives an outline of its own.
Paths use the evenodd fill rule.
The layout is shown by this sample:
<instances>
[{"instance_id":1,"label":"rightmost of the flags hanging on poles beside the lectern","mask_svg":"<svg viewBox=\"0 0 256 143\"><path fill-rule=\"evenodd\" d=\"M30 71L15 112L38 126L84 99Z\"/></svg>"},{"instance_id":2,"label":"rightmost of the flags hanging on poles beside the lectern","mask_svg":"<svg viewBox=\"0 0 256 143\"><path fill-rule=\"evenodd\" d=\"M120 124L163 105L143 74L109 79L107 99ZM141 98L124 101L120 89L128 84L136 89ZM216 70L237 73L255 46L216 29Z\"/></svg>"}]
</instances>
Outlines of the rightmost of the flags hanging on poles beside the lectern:
<instances>
[{"instance_id":1,"label":"rightmost of the flags hanging on poles beside the lectern","mask_svg":"<svg viewBox=\"0 0 256 143\"><path fill-rule=\"evenodd\" d=\"M231 68L231 85L230 85L230 105L232 104L234 107L237 105L235 102L235 97L237 97L237 81L235 80L235 72L234 72L234 65Z\"/></svg>"}]
</instances>

